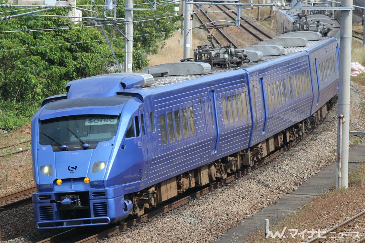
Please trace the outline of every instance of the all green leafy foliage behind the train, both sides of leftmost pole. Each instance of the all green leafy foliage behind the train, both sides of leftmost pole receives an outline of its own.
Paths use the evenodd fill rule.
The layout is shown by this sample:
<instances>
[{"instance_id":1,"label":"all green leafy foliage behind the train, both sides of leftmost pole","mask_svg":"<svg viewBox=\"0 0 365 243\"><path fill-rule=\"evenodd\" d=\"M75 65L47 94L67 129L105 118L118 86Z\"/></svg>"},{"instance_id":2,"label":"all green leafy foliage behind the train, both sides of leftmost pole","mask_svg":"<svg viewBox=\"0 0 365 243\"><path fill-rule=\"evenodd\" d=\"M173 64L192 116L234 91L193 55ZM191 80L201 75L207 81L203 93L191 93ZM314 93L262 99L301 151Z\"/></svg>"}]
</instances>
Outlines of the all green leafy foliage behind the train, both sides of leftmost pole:
<instances>
[{"instance_id":1,"label":"all green leafy foliage behind the train, both sides of leftmost pole","mask_svg":"<svg viewBox=\"0 0 365 243\"><path fill-rule=\"evenodd\" d=\"M118 0L118 4L124 4L123 1ZM88 3L89 0L78 1L78 4ZM96 6L104 5L104 0L95 3ZM135 3L142 3L142 0ZM96 8L99 17L104 16L104 8ZM159 43L172 35L170 31L180 28L180 17L153 20L157 16L173 16L173 9L174 5L170 4L158 7L157 11L134 11L137 19L152 19L134 23L134 70L146 67L145 53L155 53ZM0 8L0 16L6 11L8 9ZM24 9L17 14L27 11ZM68 12L69 9L53 8L42 14L67 16ZM83 16L88 14L85 12ZM122 6L118 7L117 15L124 17ZM147 17L150 15L155 17ZM69 22L69 18L31 15L0 21L0 128L12 130L22 125L24 119L29 121L40 101L64 93L69 81L104 74L110 72L107 67L115 66L98 27L83 23L83 27L88 28L78 28L81 26ZM109 21L105 23L110 24ZM112 39L117 58L123 60L124 38L114 27L104 28ZM124 30L123 24L119 28Z\"/></svg>"}]
</instances>

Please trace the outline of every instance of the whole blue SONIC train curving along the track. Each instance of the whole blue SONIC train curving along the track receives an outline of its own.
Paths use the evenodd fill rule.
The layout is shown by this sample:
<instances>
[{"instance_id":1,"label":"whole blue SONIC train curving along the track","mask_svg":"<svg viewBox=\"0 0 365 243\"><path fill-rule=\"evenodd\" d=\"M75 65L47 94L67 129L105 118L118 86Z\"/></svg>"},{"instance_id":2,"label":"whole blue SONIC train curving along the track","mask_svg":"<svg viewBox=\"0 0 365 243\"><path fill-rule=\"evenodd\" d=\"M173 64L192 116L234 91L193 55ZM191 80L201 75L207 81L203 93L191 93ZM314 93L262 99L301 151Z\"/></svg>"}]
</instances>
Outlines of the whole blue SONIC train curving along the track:
<instances>
[{"instance_id":1,"label":"whole blue SONIC train curving along the track","mask_svg":"<svg viewBox=\"0 0 365 243\"><path fill-rule=\"evenodd\" d=\"M338 93L339 50L330 35L295 33L239 50L241 67L197 60L105 74L45 99L31 121L37 227L140 216L301 138Z\"/></svg>"}]
</instances>

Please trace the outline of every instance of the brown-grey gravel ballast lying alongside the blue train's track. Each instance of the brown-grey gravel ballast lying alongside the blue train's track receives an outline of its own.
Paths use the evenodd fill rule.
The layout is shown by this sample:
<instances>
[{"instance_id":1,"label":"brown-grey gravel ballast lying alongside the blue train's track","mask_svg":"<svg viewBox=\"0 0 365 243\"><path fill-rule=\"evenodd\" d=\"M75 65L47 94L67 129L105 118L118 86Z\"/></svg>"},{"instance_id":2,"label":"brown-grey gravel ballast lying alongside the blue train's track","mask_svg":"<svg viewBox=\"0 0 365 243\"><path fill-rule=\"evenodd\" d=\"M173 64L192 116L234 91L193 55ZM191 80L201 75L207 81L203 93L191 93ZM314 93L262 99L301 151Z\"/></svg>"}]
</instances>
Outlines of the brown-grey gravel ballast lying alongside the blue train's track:
<instances>
[{"instance_id":1,"label":"brown-grey gravel ballast lying alongside the blue train's track","mask_svg":"<svg viewBox=\"0 0 365 243\"><path fill-rule=\"evenodd\" d=\"M362 94L365 88L351 83L350 124L365 127L359 105L364 102ZM206 243L216 240L336 161L337 117L336 105L319 127L295 148L249 175L99 242ZM24 184L9 190L22 188ZM3 192L1 190L0 194L6 194ZM37 230L31 205L0 213L0 231L5 242L37 242L59 232Z\"/></svg>"}]
</instances>

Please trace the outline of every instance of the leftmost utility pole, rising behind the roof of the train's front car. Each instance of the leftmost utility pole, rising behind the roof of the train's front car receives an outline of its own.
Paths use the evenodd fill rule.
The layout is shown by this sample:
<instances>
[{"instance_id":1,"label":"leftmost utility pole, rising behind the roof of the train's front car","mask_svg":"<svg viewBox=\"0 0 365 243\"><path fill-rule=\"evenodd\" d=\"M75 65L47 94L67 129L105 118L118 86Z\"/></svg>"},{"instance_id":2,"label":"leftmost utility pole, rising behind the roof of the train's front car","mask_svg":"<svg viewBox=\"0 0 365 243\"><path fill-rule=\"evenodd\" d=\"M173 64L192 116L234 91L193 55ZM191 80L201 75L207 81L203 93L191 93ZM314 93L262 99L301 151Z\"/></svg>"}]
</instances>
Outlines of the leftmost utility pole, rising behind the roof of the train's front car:
<instances>
[{"instance_id":1,"label":"leftmost utility pole, rising behind the roof of the train's front car","mask_svg":"<svg viewBox=\"0 0 365 243\"><path fill-rule=\"evenodd\" d=\"M126 0L126 43L124 53L124 70L132 72L133 61L133 0Z\"/></svg>"}]
</instances>

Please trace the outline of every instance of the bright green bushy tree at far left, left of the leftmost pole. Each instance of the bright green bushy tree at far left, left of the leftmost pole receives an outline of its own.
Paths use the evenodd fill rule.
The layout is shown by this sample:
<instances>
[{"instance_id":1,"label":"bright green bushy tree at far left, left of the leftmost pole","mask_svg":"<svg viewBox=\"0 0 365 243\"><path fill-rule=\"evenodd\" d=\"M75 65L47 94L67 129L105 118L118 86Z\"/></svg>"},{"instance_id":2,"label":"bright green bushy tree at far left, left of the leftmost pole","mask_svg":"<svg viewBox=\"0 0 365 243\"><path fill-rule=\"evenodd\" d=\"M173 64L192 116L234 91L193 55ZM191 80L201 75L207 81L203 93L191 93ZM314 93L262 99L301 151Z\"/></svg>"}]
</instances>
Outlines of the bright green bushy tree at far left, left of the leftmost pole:
<instances>
[{"instance_id":1,"label":"bright green bushy tree at far left, left of the leftmost pole","mask_svg":"<svg viewBox=\"0 0 365 243\"><path fill-rule=\"evenodd\" d=\"M7 10L0 8L0 14ZM97 27L62 28L69 21L30 15L0 21L0 128L23 125L23 115L29 119L43 98L65 93L67 82L106 73L114 64ZM117 55L123 58L122 52Z\"/></svg>"}]
</instances>

